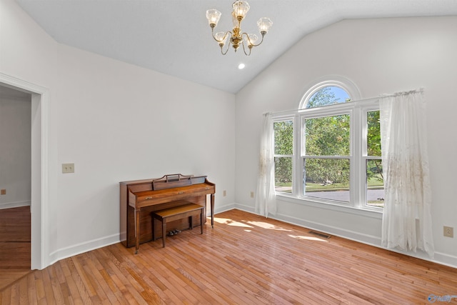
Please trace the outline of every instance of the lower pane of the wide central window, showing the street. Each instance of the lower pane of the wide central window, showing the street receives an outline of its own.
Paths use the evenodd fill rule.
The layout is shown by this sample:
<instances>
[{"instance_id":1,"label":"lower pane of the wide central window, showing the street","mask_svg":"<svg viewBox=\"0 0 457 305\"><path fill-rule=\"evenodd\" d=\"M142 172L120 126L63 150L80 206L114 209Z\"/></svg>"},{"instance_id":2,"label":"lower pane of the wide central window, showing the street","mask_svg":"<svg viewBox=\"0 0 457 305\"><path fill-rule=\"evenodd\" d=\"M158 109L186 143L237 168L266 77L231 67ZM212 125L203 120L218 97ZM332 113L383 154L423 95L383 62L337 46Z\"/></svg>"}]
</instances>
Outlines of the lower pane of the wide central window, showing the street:
<instances>
[{"instance_id":1,"label":"lower pane of the wide central window, showing the street","mask_svg":"<svg viewBox=\"0 0 457 305\"><path fill-rule=\"evenodd\" d=\"M303 159L305 195L349 202L349 159Z\"/></svg>"}]
</instances>

